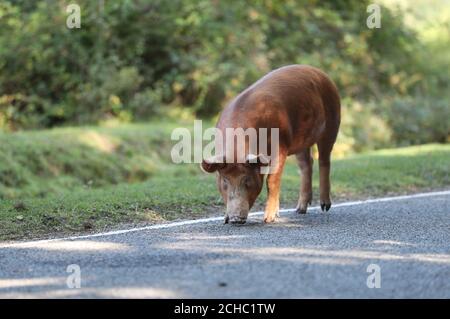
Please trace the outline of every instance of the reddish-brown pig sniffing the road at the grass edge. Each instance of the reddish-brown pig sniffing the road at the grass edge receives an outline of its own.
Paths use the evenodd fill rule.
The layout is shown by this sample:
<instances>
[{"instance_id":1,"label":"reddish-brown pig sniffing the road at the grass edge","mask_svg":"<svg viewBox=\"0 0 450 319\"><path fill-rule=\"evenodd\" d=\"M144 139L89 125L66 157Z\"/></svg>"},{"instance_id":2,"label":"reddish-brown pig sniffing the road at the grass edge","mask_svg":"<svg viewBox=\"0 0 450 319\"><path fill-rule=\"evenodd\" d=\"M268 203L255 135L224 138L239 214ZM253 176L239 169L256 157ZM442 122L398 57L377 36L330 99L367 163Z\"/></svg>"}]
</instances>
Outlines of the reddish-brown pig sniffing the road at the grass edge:
<instances>
[{"instance_id":1,"label":"reddish-brown pig sniffing the road at the grass edge","mask_svg":"<svg viewBox=\"0 0 450 319\"><path fill-rule=\"evenodd\" d=\"M239 160L236 150L227 147L223 155L204 159L201 166L208 173L217 173L217 186L226 204L225 223L245 223L248 212L260 194L267 175L267 202L264 222L278 216L281 175L285 160L295 155L302 179L297 212L306 213L312 200L313 158L311 147L319 151L320 206L331 207L330 154L340 124L340 99L335 84L321 70L307 65L289 65L276 69L240 93L226 106L216 125L225 137L226 129L278 129L276 154L251 153L248 139L240 150L245 159ZM223 145L236 143L235 139ZM267 150L272 141L267 137ZM235 145L236 146L236 145ZM236 149L236 148L234 148ZM239 150L239 149L238 149ZM227 153L228 152L228 153ZM270 163L269 163L270 162ZM264 174L261 166L272 169Z\"/></svg>"}]
</instances>

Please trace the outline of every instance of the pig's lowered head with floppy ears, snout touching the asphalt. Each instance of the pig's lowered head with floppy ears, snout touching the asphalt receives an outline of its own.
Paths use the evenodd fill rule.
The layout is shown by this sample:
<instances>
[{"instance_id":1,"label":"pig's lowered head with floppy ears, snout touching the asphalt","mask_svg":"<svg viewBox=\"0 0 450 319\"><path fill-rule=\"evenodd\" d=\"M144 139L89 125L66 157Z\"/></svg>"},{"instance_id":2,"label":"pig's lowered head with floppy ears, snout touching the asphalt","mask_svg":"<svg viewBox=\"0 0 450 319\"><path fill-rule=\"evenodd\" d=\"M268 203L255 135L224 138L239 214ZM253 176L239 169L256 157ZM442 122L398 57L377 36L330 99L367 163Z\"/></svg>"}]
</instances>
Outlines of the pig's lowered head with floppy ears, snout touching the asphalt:
<instances>
[{"instance_id":1,"label":"pig's lowered head with floppy ears, snout touching the asphalt","mask_svg":"<svg viewBox=\"0 0 450 319\"><path fill-rule=\"evenodd\" d=\"M261 166L267 165L268 159L264 155L248 155L244 163L225 163L223 157L203 160L202 169L217 174L217 187L227 206L225 223L246 222L248 212L263 187Z\"/></svg>"}]
</instances>

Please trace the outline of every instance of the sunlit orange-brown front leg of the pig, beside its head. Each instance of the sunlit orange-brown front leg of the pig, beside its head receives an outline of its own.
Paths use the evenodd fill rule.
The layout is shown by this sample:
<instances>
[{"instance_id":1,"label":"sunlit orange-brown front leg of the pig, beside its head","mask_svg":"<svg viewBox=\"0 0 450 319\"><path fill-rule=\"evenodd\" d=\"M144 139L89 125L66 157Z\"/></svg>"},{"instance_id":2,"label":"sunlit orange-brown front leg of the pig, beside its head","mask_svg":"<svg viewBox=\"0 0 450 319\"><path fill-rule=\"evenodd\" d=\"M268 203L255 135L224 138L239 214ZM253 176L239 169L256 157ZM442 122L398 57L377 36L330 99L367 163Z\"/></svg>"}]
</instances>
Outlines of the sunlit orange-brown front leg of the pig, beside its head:
<instances>
[{"instance_id":1,"label":"sunlit orange-brown front leg of the pig, beside its head","mask_svg":"<svg viewBox=\"0 0 450 319\"><path fill-rule=\"evenodd\" d=\"M272 223L278 216L280 209L280 186L281 175L283 174L283 167L286 161L286 154L280 152L276 164L271 168L267 175L267 202L264 211L264 222Z\"/></svg>"}]
</instances>

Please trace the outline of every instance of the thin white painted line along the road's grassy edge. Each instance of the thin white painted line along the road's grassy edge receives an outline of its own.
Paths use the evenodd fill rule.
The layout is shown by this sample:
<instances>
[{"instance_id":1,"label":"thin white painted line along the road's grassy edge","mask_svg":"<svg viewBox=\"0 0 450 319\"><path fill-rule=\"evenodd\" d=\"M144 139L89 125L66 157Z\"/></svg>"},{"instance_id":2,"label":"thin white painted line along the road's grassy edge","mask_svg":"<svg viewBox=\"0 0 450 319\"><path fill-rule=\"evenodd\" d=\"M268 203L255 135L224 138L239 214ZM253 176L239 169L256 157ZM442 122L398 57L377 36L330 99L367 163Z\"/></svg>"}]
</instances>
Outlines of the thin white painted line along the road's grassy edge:
<instances>
[{"instance_id":1,"label":"thin white painted line along the road's grassy edge","mask_svg":"<svg viewBox=\"0 0 450 319\"><path fill-rule=\"evenodd\" d=\"M339 204L334 204L332 207L336 208L336 207L356 206L356 205L364 205L364 204L371 204L371 203L389 202L389 201L402 200L402 199L431 197L431 196L440 196L440 195L450 195L450 190L439 191L439 192L429 192L429 193L419 193L419 194L412 194L412 195L402 195L402 196L394 196L394 197L382 197L382 198L374 198L374 199L339 203ZM308 210L318 210L319 208L320 208L319 206L309 207ZM280 213L287 213L287 212L292 212L292 211L295 211L295 208L280 209ZM264 212L260 211L260 212L250 213L249 216L258 216L258 215L263 215L263 214L264 214ZM81 236L70 236L70 237L63 237L63 238L43 239L43 240L32 240L32 241L25 241L25 242L6 243L6 244L0 244L0 248L20 247L20 246L26 246L30 243L51 243L51 242L61 241L61 240L78 240L78 239L114 236L114 235L139 232L139 231L143 231L143 230L173 228L173 227L180 227L180 226L186 226L186 225L208 223L208 222L213 222L213 221L222 221L222 220L223 220L223 216L208 217L208 218L193 219L193 220L184 220L184 221L172 222L172 223L166 223L166 224L150 225L150 226L136 227L136 228L130 228L130 229L123 229L123 230L114 230L114 231L109 231L109 232L105 232L105 233L97 233L97 234L89 234L89 235L81 235Z\"/></svg>"}]
</instances>

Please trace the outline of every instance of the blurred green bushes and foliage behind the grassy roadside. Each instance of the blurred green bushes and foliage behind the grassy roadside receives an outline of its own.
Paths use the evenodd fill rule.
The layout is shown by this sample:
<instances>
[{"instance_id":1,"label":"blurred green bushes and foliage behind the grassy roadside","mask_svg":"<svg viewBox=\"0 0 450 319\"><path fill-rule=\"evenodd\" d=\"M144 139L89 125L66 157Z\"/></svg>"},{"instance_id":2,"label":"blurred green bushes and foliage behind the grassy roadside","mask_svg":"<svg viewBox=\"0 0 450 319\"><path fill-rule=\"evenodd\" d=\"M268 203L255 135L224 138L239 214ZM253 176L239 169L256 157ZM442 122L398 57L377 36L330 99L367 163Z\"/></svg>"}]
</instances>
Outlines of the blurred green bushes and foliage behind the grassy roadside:
<instances>
[{"instance_id":1,"label":"blurred green bushes and foliage behind the grassy roadside","mask_svg":"<svg viewBox=\"0 0 450 319\"><path fill-rule=\"evenodd\" d=\"M66 27L66 6L81 28ZM337 152L449 136L450 2L1 0L0 130L212 118L293 63L337 83Z\"/></svg>"}]
</instances>

